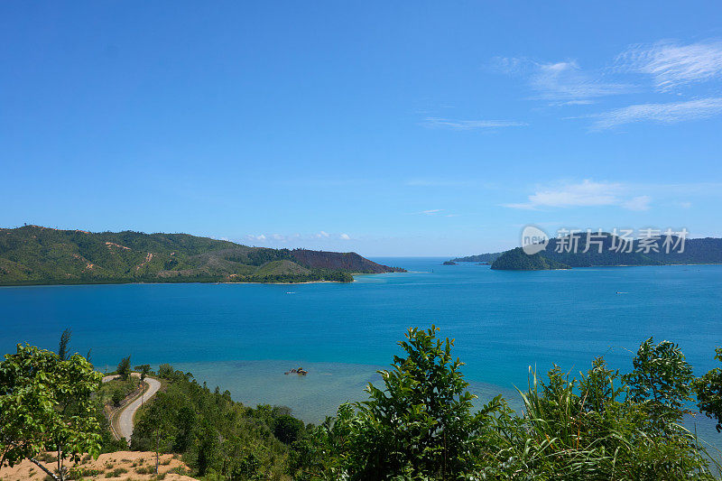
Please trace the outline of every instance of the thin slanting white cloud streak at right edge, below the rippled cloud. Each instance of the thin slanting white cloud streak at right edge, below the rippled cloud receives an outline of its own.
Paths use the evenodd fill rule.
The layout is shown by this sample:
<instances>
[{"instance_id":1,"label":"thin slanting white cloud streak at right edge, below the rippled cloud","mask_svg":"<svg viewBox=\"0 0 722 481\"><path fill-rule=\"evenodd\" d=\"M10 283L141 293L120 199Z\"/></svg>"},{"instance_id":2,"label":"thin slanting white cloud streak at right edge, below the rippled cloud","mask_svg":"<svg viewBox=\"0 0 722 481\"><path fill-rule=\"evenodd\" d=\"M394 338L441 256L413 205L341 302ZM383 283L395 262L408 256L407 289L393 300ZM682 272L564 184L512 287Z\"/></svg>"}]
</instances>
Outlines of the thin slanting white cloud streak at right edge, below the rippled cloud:
<instances>
[{"instance_id":1,"label":"thin slanting white cloud streak at right edge, below the rippled cloud","mask_svg":"<svg viewBox=\"0 0 722 481\"><path fill-rule=\"evenodd\" d=\"M643 121L675 124L685 120L717 116L719 113L722 113L722 97L700 98L668 104L639 104L592 116L597 118L592 125L592 130L604 130L617 125Z\"/></svg>"}]
</instances>

